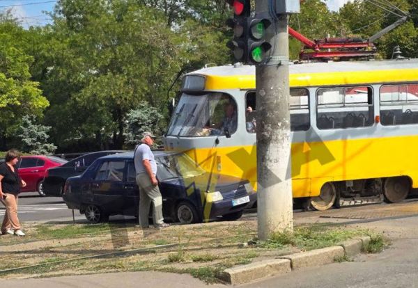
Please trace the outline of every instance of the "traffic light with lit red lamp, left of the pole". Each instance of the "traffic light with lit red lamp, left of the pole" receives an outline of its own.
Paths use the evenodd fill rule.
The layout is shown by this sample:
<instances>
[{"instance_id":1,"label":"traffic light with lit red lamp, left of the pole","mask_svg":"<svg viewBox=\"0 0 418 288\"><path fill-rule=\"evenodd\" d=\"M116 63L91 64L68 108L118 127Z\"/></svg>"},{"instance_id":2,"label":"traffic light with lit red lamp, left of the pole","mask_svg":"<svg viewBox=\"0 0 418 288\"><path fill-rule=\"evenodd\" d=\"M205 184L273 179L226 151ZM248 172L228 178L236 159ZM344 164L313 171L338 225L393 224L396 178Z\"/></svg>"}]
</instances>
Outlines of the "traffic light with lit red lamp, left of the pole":
<instances>
[{"instance_id":1,"label":"traffic light with lit red lamp, left of the pole","mask_svg":"<svg viewBox=\"0 0 418 288\"><path fill-rule=\"evenodd\" d=\"M226 46L233 51L237 61L248 63L248 19L251 15L250 0L227 0L233 7L233 19L226 24L233 29L233 40Z\"/></svg>"}]
</instances>

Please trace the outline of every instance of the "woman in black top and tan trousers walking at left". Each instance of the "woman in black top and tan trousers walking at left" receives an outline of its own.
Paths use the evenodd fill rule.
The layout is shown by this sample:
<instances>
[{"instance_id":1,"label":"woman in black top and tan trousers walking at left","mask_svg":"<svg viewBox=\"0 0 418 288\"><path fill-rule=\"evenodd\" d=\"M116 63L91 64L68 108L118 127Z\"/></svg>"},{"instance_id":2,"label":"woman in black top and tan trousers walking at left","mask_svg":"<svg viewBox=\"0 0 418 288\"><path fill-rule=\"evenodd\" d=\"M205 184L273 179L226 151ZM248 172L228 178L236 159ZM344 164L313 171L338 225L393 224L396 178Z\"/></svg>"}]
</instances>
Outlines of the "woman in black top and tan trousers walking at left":
<instances>
[{"instance_id":1,"label":"woman in black top and tan trousers walking at left","mask_svg":"<svg viewBox=\"0 0 418 288\"><path fill-rule=\"evenodd\" d=\"M6 206L1 233L24 236L19 218L17 218L17 198L20 193L20 186L26 186L26 183L17 174L17 168L15 168L19 157L19 152L9 150L4 157L5 163L0 165L0 201Z\"/></svg>"}]
</instances>

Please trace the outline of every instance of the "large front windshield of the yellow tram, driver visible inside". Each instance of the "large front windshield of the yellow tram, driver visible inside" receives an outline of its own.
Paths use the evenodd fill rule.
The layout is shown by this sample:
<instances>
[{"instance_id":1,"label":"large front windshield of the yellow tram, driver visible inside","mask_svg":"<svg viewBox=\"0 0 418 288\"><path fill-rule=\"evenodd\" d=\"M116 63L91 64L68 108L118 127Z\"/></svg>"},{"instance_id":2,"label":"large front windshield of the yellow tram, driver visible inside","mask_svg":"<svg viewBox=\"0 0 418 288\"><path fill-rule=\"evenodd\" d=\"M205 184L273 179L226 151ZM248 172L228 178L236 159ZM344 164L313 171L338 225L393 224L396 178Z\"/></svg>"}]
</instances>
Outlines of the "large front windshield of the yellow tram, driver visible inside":
<instances>
[{"instance_id":1,"label":"large front windshield of the yellow tram, driver visible inside","mask_svg":"<svg viewBox=\"0 0 418 288\"><path fill-rule=\"evenodd\" d=\"M233 134L237 130L237 105L224 93L183 94L167 135L202 137Z\"/></svg>"}]
</instances>

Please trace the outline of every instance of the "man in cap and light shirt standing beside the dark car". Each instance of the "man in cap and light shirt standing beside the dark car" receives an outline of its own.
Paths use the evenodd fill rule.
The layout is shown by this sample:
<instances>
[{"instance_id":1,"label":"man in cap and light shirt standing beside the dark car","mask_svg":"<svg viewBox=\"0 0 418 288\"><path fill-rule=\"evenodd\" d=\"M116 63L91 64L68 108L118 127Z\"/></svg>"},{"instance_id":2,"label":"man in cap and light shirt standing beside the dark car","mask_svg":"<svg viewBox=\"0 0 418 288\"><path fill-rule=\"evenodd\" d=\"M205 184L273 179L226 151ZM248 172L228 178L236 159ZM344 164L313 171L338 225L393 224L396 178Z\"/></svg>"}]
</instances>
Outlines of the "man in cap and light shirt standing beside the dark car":
<instances>
[{"instance_id":1,"label":"man in cap and light shirt standing beside the dark car","mask_svg":"<svg viewBox=\"0 0 418 288\"><path fill-rule=\"evenodd\" d=\"M150 132L144 132L141 144L135 148L134 165L137 171L137 184L139 186L139 225L148 228L148 214L150 204L153 203L153 220L157 228L169 227L164 223L162 216L162 195L158 188L157 163L150 146L154 144L155 136Z\"/></svg>"}]
</instances>

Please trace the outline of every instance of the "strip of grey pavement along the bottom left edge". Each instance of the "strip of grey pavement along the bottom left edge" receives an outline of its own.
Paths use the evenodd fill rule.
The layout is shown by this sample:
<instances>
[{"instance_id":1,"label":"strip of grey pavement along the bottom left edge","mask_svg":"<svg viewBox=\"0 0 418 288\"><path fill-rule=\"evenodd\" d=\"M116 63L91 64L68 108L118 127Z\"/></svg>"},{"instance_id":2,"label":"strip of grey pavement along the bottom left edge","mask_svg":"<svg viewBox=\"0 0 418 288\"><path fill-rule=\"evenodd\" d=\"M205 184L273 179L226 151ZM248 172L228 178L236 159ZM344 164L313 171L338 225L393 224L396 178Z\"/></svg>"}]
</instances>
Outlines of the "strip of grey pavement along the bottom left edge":
<instances>
[{"instance_id":1,"label":"strip of grey pavement along the bottom left edge","mask_svg":"<svg viewBox=\"0 0 418 288\"><path fill-rule=\"evenodd\" d=\"M95 275L75 275L42 279L1 280L1 288L217 288L225 285L206 285L199 279L188 274L164 273L164 272L126 272L105 273Z\"/></svg>"}]
</instances>

